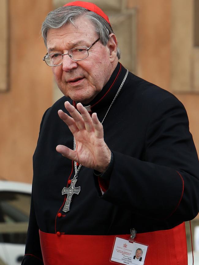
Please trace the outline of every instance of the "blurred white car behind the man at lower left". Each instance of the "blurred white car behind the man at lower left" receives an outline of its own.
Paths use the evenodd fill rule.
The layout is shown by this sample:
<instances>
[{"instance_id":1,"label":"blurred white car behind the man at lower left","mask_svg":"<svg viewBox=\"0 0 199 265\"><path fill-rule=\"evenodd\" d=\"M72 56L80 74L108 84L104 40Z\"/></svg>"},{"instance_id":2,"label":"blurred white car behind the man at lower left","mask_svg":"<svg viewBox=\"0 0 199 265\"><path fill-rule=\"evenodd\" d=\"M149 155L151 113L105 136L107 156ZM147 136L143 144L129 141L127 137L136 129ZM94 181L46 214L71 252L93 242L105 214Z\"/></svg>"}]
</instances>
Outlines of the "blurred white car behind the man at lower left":
<instances>
[{"instance_id":1,"label":"blurred white car behind the man at lower left","mask_svg":"<svg viewBox=\"0 0 199 265\"><path fill-rule=\"evenodd\" d=\"M19 265L24 256L31 185L0 181L0 264Z\"/></svg>"}]
</instances>

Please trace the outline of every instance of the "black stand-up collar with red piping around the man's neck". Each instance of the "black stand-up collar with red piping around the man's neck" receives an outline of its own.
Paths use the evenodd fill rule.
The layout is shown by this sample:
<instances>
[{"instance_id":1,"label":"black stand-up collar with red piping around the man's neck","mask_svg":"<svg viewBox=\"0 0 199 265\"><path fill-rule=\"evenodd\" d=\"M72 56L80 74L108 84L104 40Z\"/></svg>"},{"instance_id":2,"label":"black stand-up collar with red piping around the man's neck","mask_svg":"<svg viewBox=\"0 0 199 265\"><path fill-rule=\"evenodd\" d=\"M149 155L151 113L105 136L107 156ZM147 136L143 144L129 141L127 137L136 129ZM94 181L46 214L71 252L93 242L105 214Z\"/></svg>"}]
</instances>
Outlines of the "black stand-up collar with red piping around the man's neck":
<instances>
[{"instance_id":1,"label":"black stand-up collar with red piping around the man's neck","mask_svg":"<svg viewBox=\"0 0 199 265\"><path fill-rule=\"evenodd\" d=\"M102 88L100 93L97 94L96 97L90 103L84 104L84 107L88 110L88 112L95 112L96 109L104 107L111 103L115 96L115 93L117 92L116 90L118 90L118 86L116 85L116 83L121 83L125 74L126 69L122 66L121 63L118 62L110 79ZM73 105L76 106L76 102L73 102Z\"/></svg>"}]
</instances>

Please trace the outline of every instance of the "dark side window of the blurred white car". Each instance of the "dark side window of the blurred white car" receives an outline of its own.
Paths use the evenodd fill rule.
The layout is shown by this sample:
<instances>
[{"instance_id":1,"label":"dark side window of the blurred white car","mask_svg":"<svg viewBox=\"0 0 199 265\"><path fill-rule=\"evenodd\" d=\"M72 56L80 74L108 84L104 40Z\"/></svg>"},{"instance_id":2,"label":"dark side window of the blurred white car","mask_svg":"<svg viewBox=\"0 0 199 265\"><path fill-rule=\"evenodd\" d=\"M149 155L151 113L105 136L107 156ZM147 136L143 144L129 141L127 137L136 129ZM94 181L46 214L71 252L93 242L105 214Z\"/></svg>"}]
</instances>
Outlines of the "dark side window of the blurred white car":
<instances>
[{"instance_id":1,"label":"dark side window of the blurred white car","mask_svg":"<svg viewBox=\"0 0 199 265\"><path fill-rule=\"evenodd\" d=\"M0 242L25 244L31 195L0 192Z\"/></svg>"}]
</instances>

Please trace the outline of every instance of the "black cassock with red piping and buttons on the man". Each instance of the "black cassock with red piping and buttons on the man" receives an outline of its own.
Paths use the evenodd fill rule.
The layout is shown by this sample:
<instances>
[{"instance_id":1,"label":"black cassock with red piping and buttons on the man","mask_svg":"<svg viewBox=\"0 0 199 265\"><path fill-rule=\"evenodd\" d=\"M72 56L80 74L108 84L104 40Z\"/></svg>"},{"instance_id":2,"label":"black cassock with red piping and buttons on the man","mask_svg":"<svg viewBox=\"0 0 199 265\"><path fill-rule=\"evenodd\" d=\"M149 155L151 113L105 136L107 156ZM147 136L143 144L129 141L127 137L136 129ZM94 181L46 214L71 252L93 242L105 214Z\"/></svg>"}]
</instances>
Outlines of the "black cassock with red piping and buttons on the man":
<instances>
[{"instance_id":1,"label":"black cassock with red piping and buttons on the man","mask_svg":"<svg viewBox=\"0 0 199 265\"><path fill-rule=\"evenodd\" d=\"M125 74L118 63L90 103L100 121ZM26 254L33 256L25 256L22 264L35 264L34 256L42 259L39 229L71 235L129 234L130 228L144 233L171 229L197 215L199 163L186 110L174 95L130 72L103 122L114 157L109 187L100 194L98 177L82 166L76 182L81 191L73 195L70 211L63 212L62 189L75 174L72 161L55 150L59 144L73 149L73 135L57 114L66 112L66 100L74 104L62 97L41 122L26 245Z\"/></svg>"}]
</instances>

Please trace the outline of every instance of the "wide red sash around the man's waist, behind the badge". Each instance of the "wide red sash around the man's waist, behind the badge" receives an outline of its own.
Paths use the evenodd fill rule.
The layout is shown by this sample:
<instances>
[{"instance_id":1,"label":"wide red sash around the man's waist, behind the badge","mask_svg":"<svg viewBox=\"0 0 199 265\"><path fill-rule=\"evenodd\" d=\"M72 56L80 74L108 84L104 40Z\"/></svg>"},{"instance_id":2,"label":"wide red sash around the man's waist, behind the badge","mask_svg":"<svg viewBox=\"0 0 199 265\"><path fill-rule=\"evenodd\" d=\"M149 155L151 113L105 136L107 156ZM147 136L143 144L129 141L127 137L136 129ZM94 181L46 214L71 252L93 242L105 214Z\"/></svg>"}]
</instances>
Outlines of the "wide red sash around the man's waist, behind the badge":
<instances>
[{"instance_id":1,"label":"wide red sash around the man's waist, behind the badge","mask_svg":"<svg viewBox=\"0 0 199 265\"><path fill-rule=\"evenodd\" d=\"M44 265L112 265L115 235L57 235L39 230ZM118 235L128 239L130 235ZM149 245L145 265L187 265L185 224L170 230L137 234L137 242Z\"/></svg>"}]
</instances>

